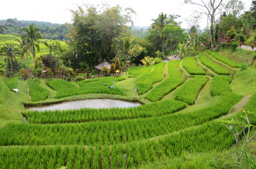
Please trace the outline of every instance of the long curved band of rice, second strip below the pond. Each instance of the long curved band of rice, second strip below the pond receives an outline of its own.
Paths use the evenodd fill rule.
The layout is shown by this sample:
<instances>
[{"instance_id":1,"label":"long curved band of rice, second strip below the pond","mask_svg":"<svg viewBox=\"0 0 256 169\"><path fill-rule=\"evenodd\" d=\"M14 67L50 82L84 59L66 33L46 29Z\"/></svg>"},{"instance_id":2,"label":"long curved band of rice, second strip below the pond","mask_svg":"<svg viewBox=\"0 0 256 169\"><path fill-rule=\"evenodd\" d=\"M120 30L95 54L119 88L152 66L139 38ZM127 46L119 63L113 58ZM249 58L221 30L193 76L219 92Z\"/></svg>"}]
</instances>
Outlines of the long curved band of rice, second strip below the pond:
<instances>
[{"instance_id":1,"label":"long curved band of rice, second strip below the pond","mask_svg":"<svg viewBox=\"0 0 256 169\"><path fill-rule=\"evenodd\" d=\"M168 111L168 107L167 109L163 107L162 112L160 108L155 109L155 106L149 106L147 109L150 109L152 113L163 115L124 121L95 121L78 124L72 123L74 122L73 117L70 116L68 121L71 123L67 124L9 123L0 129L0 145L112 145L131 143L212 121L212 119L227 114L229 109L240 99L241 96L224 92L218 103L188 113L170 114L165 112ZM121 114L112 113L116 117L121 117ZM99 113L96 112L96 114ZM92 119L95 115L92 116ZM130 113L125 115L132 117Z\"/></svg>"}]
</instances>

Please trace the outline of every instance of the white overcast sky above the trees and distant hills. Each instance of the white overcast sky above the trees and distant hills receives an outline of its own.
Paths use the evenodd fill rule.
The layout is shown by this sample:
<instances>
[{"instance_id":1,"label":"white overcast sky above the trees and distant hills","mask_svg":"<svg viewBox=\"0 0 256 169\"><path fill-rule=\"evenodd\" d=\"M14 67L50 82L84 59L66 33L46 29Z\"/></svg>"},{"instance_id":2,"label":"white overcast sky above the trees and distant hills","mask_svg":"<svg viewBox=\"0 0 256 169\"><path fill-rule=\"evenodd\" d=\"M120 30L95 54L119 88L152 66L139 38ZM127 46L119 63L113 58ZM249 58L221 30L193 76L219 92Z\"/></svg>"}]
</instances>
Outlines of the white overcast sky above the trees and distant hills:
<instances>
[{"instance_id":1,"label":"white overcast sky above the trees and distant hills","mask_svg":"<svg viewBox=\"0 0 256 169\"><path fill-rule=\"evenodd\" d=\"M249 10L252 0L242 0L245 3L246 10ZM224 0L228 2L228 0ZM132 8L137 17L133 19L134 26L150 26L151 19L156 19L158 15L163 12L164 14L180 15L179 21L182 21L182 28L187 28L184 19L191 16L193 11L198 10L196 5L185 5L184 0L3 0L1 2L0 19L17 18L18 20L36 20L46 21L50 23L71 23L71 12L77 10L77 6L83 4L98 5L101 3L109 3L111 6L120 5L120 7ZM201 22L201 28L206 27L206 17Z\"/></svg>"}]
</instances>

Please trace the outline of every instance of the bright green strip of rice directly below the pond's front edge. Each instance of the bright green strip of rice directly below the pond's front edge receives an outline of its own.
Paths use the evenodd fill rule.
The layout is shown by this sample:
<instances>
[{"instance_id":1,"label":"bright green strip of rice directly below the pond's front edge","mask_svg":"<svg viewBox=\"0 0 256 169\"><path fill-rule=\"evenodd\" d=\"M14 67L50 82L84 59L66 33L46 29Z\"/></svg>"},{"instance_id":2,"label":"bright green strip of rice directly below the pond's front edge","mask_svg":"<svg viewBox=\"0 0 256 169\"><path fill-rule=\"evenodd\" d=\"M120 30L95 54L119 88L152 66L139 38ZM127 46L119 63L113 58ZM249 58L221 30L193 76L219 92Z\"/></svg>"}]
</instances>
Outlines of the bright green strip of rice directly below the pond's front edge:
<instances>
[{"instance_id":1,"label":"bright green strip of rice directly below the pond's front edge","mask_svg":"<svg viewBox=\"0 0 256 169\"><path fill-rule=\"evenodd\" d=\"M186 108L186 104L176 100L163 100L157 103L137 106L136 108L111 108L79 110L46 110L44 112L29 111L24 115L31 124L55 124L70 122L114 121L134 118L146 118L171 114ZM155 112L152 111L155 110ZM69 119L67 119L67 117ZM71 119L71 120L70 120Z\"/></svg>"}]
</instances>

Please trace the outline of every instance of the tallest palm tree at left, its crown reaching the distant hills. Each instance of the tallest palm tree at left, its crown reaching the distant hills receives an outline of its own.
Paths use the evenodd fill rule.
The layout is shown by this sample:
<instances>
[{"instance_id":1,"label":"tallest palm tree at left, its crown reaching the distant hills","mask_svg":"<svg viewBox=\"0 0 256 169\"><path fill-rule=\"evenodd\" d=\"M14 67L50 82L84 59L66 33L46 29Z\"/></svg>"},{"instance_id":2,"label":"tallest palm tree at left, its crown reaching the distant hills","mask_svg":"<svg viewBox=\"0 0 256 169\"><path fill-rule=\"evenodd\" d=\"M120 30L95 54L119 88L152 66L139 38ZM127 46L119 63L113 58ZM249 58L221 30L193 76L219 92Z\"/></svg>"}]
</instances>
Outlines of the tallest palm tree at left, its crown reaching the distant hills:
<instances>
[{"instance_id":1,"label":"tallest palm tree at left, its crown reaching the distant hills","mask_svg":"<svg viewBox=\"0 0 256 169\"><path fill-rule=\"evenodd\" d=\"M37 51L40 51L39 43L44 43L46 46L47 42L40 41L42 39L42 35L40 33L40 29L34 26L34 24L29 25L29 27L24 27L22 30L25 31L24 38L27 39L29 46L31 47L31 52L33 55L33 59L36 58L36 48ZM35 63L35 61L34 61Z\"/></svg>"}]
</instances>

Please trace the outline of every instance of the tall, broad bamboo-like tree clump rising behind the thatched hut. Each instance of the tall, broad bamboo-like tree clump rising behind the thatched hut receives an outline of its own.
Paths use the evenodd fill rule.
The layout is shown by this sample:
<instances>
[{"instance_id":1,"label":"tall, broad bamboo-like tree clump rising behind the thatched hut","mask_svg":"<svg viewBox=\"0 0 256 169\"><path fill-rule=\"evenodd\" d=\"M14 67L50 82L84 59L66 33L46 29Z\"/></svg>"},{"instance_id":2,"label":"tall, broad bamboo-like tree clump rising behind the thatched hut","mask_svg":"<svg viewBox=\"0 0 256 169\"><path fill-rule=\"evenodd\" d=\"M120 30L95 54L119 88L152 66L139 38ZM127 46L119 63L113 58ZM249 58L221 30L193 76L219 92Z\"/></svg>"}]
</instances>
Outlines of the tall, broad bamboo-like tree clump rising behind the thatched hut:
<instances>
[{"instance_id":1,"label":"tall, broad bamboo-like tree clump rising behind the thatched hut","mask_svg":"<svg viewBox=\"0 0 256 169\"><path fill-rule=\"evenodd\" d=\"M72 62L73 67L76 68L79 63L93 66L104 59L114 59L118 48L114 39L127 32L127 24L133 24L131 18L134 11L131 8L122 10L120 6L88 5L71 12L71 42L77 50L77 59Z\"/></svg>"}]
</instances>

